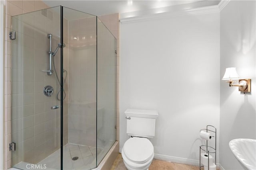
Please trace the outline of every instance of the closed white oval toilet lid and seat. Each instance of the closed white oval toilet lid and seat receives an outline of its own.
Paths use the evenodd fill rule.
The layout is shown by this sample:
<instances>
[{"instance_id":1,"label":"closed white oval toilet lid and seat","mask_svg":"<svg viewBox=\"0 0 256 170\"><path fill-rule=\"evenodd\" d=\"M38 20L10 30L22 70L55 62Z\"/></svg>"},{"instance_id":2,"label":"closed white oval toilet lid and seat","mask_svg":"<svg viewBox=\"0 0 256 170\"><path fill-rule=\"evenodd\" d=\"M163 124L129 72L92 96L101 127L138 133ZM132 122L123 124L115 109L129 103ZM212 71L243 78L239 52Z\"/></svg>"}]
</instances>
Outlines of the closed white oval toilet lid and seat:
<instances>
[{"instance_id":1,"label":"closed white oval toilet lid and seat","mask_svg":"<svg viewBox=\"0 0 256 170\"><path fill-rule=\"evenodd\" d=\"M144 164L154 157L154 147L146 138L131 137L124 143L123 154L131 162Z\"/></svg>"}]
</instances>

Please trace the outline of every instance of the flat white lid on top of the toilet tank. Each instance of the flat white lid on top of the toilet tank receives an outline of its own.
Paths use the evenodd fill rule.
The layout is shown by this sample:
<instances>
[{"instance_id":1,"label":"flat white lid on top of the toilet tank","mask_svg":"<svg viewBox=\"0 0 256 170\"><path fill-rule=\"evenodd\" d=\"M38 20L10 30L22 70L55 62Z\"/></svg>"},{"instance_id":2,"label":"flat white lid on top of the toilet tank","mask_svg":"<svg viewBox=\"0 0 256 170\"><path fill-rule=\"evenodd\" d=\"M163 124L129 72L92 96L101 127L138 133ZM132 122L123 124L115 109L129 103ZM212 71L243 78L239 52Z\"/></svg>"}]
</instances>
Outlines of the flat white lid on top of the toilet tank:
<instances>
[{"instance_id":1,"label":"flat white lid on top of the toilet tank","mask_svg":"<svg viewBox=\"0 0 256 170\"><path fill-rule=\"evenodd\" d=\"M126 109L124 112L126 116L135 116L135 117L158 117L158 112L156 110L141 110L141 109Z\"/></svg>"}]
</instances>

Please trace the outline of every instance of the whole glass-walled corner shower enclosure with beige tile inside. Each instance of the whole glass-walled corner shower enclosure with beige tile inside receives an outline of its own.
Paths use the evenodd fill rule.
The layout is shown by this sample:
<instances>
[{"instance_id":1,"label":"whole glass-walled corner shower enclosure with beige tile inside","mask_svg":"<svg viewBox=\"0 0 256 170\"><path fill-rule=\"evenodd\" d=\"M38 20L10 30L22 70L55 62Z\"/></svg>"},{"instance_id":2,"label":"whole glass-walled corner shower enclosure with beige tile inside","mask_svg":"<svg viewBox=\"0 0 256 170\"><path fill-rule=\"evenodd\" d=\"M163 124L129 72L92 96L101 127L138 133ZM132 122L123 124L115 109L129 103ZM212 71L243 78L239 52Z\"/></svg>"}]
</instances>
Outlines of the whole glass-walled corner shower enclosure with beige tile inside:
<instances>
[{"instance_id":1,"label":"whole glass-walled corner shower enclosure with beige tile inside","mask_svg":"<svg viewBox=\"0 0 256 170\"><path fill-rule=\"evenodd\" d=\"M97 167L116 141L116 38L62 6L13 16L12 31L12 167Z\"/></svg>"}]
</instances>

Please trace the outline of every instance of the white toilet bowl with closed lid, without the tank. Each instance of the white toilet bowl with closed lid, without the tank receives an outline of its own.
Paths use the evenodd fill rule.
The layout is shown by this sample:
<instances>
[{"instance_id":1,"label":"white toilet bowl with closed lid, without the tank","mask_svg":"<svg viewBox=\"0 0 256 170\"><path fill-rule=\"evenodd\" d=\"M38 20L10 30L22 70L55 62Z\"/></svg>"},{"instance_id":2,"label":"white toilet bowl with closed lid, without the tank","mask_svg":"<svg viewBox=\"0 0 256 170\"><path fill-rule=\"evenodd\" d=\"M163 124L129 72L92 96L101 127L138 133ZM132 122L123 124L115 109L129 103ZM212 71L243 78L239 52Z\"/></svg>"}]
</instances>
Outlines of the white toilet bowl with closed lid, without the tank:
<instances>
[{"instance_id":1,"label":"white toilet bowl with closed lid, without the tank","mask_svg":"<svg viewBox=\"0 0 256 170\"><path fill-rule=\"evenodd\" d=\"M154 147L144 137L131 137L122 149L124 165L128 170L147 170L154 158Z\"/></svg>"}]
</instances>

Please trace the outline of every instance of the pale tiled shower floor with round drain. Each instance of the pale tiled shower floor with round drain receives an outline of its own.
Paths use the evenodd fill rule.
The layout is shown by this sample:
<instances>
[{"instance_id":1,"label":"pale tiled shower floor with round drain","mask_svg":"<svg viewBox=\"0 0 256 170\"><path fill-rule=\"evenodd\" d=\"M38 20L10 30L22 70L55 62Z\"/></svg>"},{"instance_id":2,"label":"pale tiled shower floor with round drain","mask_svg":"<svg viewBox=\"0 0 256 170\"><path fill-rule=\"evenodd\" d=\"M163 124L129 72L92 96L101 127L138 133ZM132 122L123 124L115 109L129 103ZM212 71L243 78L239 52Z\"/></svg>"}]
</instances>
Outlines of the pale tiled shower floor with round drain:
<instances>
[{"instance_id":1,"label":"pale tiled shower floor with round drain","mask_svg":"<svg viewBox=\"0 0 256 170\"><path fill-rule=\"evenodd\" d=\"M110 141L109 146L113 141ZM84 145L76 145L69 143L63 147L63 169L64 170L90 170L96 167L96 154L98 154L98 160L108 152L109 146L104 146L104 149L96 147L88 147ZM78 159L72 160L72 158L78 156ZM46 168L45 168L45 166ZM28 167L27 167L28 166ZM31 163L19 162L14 165L13 168L21 170L30 170ZM45 170L59 170L60 169L60 149L56 150L44 160L41 160L37 167L42 167ZM40 169L42 169L40 168ZM36 168L33 168L36 170ZM39 169L38 169L39 170Z\"/></svg>"}]
</instances>

